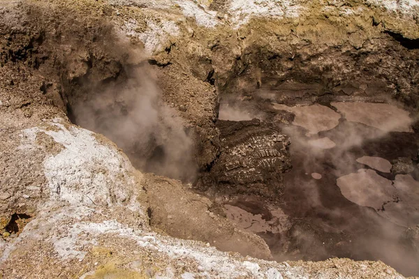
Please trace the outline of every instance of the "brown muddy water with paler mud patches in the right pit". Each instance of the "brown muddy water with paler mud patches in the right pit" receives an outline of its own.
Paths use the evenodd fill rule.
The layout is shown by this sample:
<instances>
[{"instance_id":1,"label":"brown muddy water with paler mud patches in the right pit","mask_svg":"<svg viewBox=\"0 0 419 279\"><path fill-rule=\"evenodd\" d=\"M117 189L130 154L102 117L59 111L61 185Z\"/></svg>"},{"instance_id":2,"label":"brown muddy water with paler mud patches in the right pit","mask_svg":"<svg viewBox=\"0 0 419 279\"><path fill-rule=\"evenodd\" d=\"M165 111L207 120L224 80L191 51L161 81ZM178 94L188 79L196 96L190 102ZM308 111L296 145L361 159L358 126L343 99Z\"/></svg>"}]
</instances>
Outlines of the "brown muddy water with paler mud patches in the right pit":
<instances>
[{"instance_id":1,"label":"brown muddy water with paler mud patches in the right pit","mask_svg":"<svg viewBox=\"0 0 419 279\"><path fill-rule=\"evenodd\" d=\"M419 253L402 236L419 224L419 182L396 166L419 147L409 113L377 103L273 107L295 115L278 124L292 141L284 195L230 201L228 217L262 236L277 260L380 259L418 276Z\"/></svg>"}]
</instances>

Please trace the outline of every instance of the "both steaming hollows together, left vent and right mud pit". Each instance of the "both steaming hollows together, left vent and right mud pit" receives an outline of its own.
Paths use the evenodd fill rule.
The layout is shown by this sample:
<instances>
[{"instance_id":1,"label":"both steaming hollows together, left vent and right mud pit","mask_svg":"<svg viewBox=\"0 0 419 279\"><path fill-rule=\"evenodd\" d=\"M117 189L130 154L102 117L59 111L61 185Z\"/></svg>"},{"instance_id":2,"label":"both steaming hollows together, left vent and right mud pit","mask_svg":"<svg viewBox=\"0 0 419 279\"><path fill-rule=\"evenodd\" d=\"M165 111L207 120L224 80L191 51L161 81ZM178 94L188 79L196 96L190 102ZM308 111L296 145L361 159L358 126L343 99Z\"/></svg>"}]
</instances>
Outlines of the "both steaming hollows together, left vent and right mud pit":
<instances>
[{"instance_id":1,"label":"both steaming hollows together, left vent and right mud pit","mask_svg":"<svg viewBox=\"0 0 419 279\"><path fill-rule=\"evenodd\" d=\"M95 89L82 84L89 96L68 96L74 123L109 137L138 169L191 182L261 236L277 261L381 259L419 273L418 251L400 243L419 222L419 196L406 196L419 186L411 173L390 172L393 160L418 160L412 108L383 103L388 97L322 95L321 85L304 82L224 89L218 153L199 169L203 142L179 117L186 107L162 102L149 78L147 68L122 68Z\"/></svg>"}]
</instances>

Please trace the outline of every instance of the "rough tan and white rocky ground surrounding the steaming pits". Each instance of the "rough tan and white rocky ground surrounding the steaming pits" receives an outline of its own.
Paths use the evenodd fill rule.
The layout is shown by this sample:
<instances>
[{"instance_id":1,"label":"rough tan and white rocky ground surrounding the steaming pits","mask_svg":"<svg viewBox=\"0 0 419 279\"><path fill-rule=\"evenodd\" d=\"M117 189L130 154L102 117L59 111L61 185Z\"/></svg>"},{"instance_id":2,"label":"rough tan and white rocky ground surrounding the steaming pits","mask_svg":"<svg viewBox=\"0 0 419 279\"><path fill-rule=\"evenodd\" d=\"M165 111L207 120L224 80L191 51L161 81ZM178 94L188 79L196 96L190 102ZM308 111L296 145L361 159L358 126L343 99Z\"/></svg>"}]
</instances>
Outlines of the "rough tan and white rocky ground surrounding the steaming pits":
<instances>
[{"instance_id":1,"label":"rough tan and white rocky ground surrounding the steaming pits","mask_svg":"<svg viewBox=\"0 0 419 279\"><path fill-rule=\"evenodd\" d=\"M72 118L72 106L89 93L124 85L127 67L149 64L161 100L193 130L198 168L211 169L260 143L244 137L234 154L221 153L220 91L251 100L272 89L272 102L287 104L383 95L418 107L417 13L417 1L0 1L2 277L403 278L382 262L279 264L166 236L176 234L166 223L174 205L154 211L161 226L147 210L176 201L170 192L153 196L166 179L162 186L133 169L115 144L70 124L66 114ZM267 152L259 154L265 165L250 160L256 179L265 167L280 174L289 165L286 137L260 133L270 140L257 146ZM229 182L233 173L226 172ZM147 179L155 183L148 189ZM173 186L178 198L191 197L180 185ZM211 210L219 211L207 213L207 199L197 200L185 201L197 211L194 226L200 218L210 229L221 222L230 237L258 245L222 216L212 218ZM174 211L177 224L184 214ZM205 233L197 235L217 241Z\"/></svg>"}]
</instances>

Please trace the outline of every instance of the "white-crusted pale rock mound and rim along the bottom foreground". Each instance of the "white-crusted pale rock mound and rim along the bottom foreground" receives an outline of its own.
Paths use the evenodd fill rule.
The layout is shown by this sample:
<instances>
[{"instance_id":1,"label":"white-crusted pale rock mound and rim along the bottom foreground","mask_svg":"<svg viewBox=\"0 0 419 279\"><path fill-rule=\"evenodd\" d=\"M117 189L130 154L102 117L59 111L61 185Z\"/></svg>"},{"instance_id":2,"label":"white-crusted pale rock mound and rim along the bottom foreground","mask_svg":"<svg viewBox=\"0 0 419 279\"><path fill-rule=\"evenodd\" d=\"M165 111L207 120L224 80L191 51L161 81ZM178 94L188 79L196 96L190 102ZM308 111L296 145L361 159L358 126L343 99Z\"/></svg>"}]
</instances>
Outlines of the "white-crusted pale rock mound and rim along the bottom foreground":
<instances>
[{"instance_id":1,"label":"white-crusted pale rock mound and rim along the bottom foreground","mask_svg":"<svg viewBox=\"0 0 419 279\"><path fill-rule=\"evenodd\" d=\"M10 117L7 119L11 120L13 119ZM31 120L34 121L35 117ZM31 126L30 123L27 125ZM7 139L13 137L13 133L15 132L2 133L1 137ZM23 127L16 133L22 137L15 142L15 157L9 160L31 162L35 169L40 171L40 175L45 175L47 183L41 185L41 196L33 195L20 199L21 193L17 192L9 197L20 200L20 204L15 205L15 210L22 211L33 206L34 211L31 212L33 218L18 236L10 237L6 241L1 240L0 266L3 278L293 278L310 277L318 272L325 278L334 278L335 272L344 271L345 266L353 264L347 259L336 259L324 264L307 263L307 266L301 263L295 265L293 262L278 264L219 252L208 247L217 245L213 242L205 245L202 242L162 236L150 230L145 206L146 192L142 190L142 185L147 189L147 193L159 195L155 188L160 188L161 193L163 188L171 187L170 183L177 183L176 181L158 177L145 181L144 176L133 169L115 144L105 137L73 126L65 119L40 121L38 126ZM31 160L34 158L30 156L31 153L36 154L43 149L45 150L41 160ZM3 149L1 151L3 152ZM110 160L102 158L105 154L108 154ZM3 161L1 163L3 165ZM64 167L68 170L64 172L66 179L57 181L56 179L62 176L50 176L56 169L54 167ZM147 183L152 183L153 186L149 187ZM1 185L2 190L4 186ZM115 186L117 188L113 188ZM196 199L195 205L184 209L189 218L197 218L197 226L205 223L220 224L220 217L215 214L209 214L207 221L199 222L198 212L205 209L205 199L193 198L195 194L182 193L182 187L179 185L176 189L176 193L167 192L167 189L163 190L163 193L175 199L184 199L186 204ZM177 193L180 193L179 196ZM159 199L159 206L169 202L161 195ZM152 197L149 202L155 206L158 204ZM175 206L173 202L169 204ZM177 205L181 204L182 202L177 202ZM192 211L194 206L195 211ZM173 214L169 219L175 222L182 220L176 216L176 211L166 209L169 210L166 213ZM155 213L157 212L152 210L151 215ZM191 213L198 215L192 217ZM183 222L186 221L187 218L183 219ZM226 232L223 233L223 228L217 227L217 230L219 235L228 236ZM240 239L246 234L233 227L230 227L230 230L233 232L233 239L228 241L228 250L234 250L231 245L237 238ZM249 239L254 241L256 236L250 236ZM247 239L242 241L247 245L251 243ZM240 243L236 246L240 246ZM256 250L257 246L252 252ZM362 269L362 272L352 271L348 278L360 278L365 274L378 274L383 278L397 275L393 269L381 262L371 262L371 265L368 262L359 264L360 268L367 267ZM336 266L339 266L338 269Z\"/></svg>"}]
</instances>

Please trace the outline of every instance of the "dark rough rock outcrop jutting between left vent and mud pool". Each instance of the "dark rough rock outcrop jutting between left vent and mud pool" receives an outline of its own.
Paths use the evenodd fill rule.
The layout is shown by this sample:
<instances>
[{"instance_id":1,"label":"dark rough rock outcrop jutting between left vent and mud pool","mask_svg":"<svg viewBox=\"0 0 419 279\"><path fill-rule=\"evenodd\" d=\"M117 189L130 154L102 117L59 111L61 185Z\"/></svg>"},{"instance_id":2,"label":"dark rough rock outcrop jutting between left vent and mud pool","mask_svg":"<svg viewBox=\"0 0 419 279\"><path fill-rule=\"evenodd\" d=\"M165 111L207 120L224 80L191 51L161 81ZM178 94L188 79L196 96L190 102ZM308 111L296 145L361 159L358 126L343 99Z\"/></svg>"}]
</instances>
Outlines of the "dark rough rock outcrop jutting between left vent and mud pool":
<instances>
[{"instance_id":1,"label":"dark rough rock outcrop jutting between left vent and mud pool","mask_svg":"<svg viewBox=\"0 0 419 279\"><path fill-rule=\"evenodd\" d=\"M218 194L257 193L277 197L283 192L282 174L291 167L289 137L271 126L253 121L218 121L221 154L196 188L214 185Z\"/></svg>"}]
</instances>

